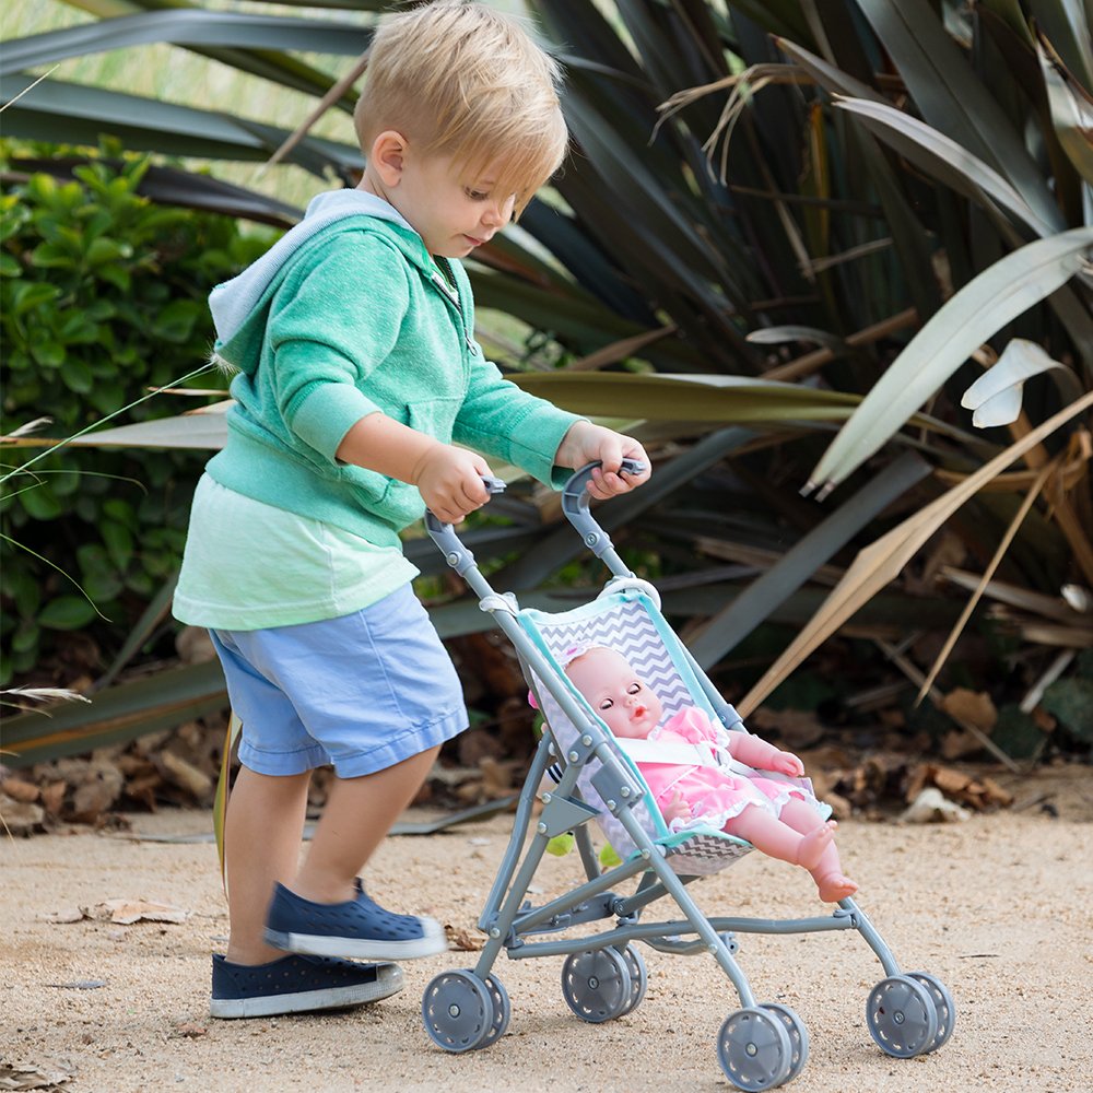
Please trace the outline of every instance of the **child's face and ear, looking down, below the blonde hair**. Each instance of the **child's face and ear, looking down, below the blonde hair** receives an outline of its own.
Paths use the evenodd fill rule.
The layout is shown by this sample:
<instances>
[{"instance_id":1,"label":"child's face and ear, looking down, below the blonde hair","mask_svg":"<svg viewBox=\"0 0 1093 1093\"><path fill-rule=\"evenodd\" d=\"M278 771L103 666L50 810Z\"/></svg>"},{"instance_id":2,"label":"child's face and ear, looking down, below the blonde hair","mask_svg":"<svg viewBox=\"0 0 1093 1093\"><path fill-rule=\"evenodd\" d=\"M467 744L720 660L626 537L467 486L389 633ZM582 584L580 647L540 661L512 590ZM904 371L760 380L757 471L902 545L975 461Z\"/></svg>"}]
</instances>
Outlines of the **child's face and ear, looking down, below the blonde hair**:
<instances>
[{"instance_id":1,"label":"child's face and ear, looking down, below the blonde hair","mask_svg":"<svg viewBox=\"0 0 1093 1093\"><path fill-rule=\"evenodd\" d=\"M386 197L425 240L431 255L466 258L513 218L516 195L492 188L490 167L468 181L450 156L406 150L398 184Z\"/></svg>"}]
</instances>

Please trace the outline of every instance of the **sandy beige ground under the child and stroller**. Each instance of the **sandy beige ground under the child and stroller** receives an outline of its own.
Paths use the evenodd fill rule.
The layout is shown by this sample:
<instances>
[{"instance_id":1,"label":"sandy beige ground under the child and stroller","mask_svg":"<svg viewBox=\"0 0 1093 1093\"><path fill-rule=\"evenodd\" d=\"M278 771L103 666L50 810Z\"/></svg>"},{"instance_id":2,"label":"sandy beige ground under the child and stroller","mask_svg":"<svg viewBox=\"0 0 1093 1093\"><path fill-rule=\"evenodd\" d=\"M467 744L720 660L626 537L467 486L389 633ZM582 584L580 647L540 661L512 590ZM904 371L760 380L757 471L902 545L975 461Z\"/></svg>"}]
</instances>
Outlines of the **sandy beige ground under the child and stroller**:
<instances>
[{"instance_id":1,"label":"sandy beige ground under the child and stroller","mask_svg":"<svg viewBox=\"0 0 1093 1093\"><path fill-rule=\"evenodd\" d=\"M903 968L930 972L949 986L956 1026L938 1053L890 1058L865 1024L866 997L883 973L856 932L740 936L738 959L759 999L794 1007L809 1030L809 1062L790 1088L1091 1088L1091 774L1049 768L1011 781L1018 809L966 823L841 825L847 871L861 884L859 905ZM210 830L208 814L199 812L131 820L146 835ZM390 838L369 867L369 885L393 908L471 928L508 831L508 818L497 816L444 834ZM550 895L578 873L575 854L548 858L536 888ZM822 913L803 872L757 854L693 891L709 914ZM157 901L189 914L177 925L46 920L66 907L115 898ZM665 910L657 917L663 917L666 905L659 906ZM85 831L3 839L0 1076L19 1065L55 1080L67 1077L59 1088L78 1093L729 1089L715 1043L739 1003L708 956L645 948L645 1001L600 1025L567 1009L560 957L502 956L495 974L513 1002L508 1034L486 1050L453 1056L426 1037L421 996L438 972L473 966L472 953L407 964L407 989L371 1008L218 1022L207 1015L209 953L223 945L226 922L211 844ZM95 983L101 985L89 986ZM0 1079L0 1089L11 1088L26 1086Z\"/></svg>"}]
</instances>

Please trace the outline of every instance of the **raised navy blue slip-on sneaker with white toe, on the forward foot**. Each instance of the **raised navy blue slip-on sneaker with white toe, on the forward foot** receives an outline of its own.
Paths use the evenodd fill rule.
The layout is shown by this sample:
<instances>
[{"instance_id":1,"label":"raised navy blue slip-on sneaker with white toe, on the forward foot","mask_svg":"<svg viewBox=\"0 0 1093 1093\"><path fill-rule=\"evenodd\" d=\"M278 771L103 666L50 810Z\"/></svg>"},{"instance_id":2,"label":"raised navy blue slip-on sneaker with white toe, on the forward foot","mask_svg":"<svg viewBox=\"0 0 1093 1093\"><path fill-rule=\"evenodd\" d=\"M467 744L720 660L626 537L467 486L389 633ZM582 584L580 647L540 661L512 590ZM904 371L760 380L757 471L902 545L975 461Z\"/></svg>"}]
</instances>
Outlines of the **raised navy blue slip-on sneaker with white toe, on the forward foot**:
<instances>
[{"instance_id":1,"label":"raised navy blue slip-on sneaker with white toe, on the forward foot","mask_svg":"<svg viewBox=\"0 0 1093 1093\"><path fill-rule=\"evenodd\" d=\"M360 878L356 898L346 903L312 903L275 885L266 943L293 953L360 960L412 960L448 948L439 922L384 910L365 894Z\"/></svg>"}]
</instances>

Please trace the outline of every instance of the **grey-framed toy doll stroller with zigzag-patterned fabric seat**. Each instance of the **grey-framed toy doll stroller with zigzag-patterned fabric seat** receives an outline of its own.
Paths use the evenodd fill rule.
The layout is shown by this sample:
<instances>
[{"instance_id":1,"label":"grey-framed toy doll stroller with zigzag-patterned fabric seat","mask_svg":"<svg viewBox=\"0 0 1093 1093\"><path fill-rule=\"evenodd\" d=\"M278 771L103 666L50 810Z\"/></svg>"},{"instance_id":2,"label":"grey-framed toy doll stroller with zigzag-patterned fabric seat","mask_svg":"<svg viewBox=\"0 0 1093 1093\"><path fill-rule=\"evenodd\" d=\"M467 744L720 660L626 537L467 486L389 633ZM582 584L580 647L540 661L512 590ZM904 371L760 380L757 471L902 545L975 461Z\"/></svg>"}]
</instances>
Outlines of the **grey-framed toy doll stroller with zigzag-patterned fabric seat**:
<instances>
[{"instance_id":1,"label":"grey-framed toy doll stroller with zigzag-patterned fabric seat","mask_svg":"<svg viewBox=\"0 0 1093 1093\"><path fill-rule=\"evenodd\" d=\"M428 984L422 1000L425 1030L434 1043L456 1053L489 1047L504 1035L512 1007L493 973L502 949L510 960L564 956L562 995L578 1018L593 1023L630 1013L645 996L646 968L635 942L679 955L708 952L732 982L741 1003L718 1033L718 1061L736 1088L773 1089L803 1069L808 1032L788 1006L755 1000L733 957L734 935L857 930L884 969L884 978L866 1002L873 1039L897 1058L937 1050L949 1039L955 1021L949 990L927 973L901 973L888 945L853 900L841 901L831 916L775 920L708 918L691 897L687 885L692 881L732 865L751 845L712 827L669 831L637 766L563 671L563 650L577 643L614 648L638 668L659 694L666 713L691 704L727 729L743 729L743 724L660 614L656 588L626 568L589 514L585 486L593 466L573 475L562 505L585 545L604 562L612 577L593 601L572 611L521 610L510 592L494 592L451 526L432 514L426 516L430 534L448 564L478 593L482 610L493 615L516 647L545 725L520 794L508 848L479 918L489 940L473 971L444 972ZM633 473L640 467L625 461L623 470ZM502 483L486 484L492 492L504 489ZM532 802L544 775L556 788L541 795L543 808L533 821ZM589 820L597 821L623 859L606 872L591 844ZM525 850L532 823L536 834ZM588 880L533 906L526 896L534 871L550 839L566 832L575 836ZM637 878L636 888L628 895L621 894L620 885L632 878ZM646 908L663 896L674 901L683 917L643 921ZM593 921L608 925L591 936L565 937L571 927ZM542 935L551 937L534 940Z\"/></svg>"}]
</instances>

